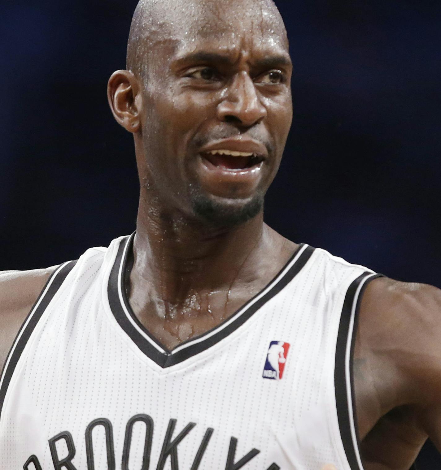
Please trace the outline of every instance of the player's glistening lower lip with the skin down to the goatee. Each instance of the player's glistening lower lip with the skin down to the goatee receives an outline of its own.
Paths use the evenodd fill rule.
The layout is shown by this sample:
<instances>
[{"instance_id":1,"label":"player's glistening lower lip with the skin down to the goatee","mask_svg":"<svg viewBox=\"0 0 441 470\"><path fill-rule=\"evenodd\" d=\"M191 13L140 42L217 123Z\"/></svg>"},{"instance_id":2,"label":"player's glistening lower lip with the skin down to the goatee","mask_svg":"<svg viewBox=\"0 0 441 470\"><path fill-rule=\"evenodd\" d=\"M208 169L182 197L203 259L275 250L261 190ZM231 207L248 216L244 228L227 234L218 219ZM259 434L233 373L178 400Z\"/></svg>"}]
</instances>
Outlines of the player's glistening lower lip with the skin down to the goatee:
<instances>
[{"instance_id":1,"label":"player's glistening lower lip with the skin down to the goatee","mask_svg":"<svg viewBox=\"0 0 441 470\"><path fill-rule=\"evenodd\" d=\"M247 197L262 177L263 162L249 168L230 169L216 166L201 155L197 160L200 183L215 196Z\"/></svg>"}]
</instances>

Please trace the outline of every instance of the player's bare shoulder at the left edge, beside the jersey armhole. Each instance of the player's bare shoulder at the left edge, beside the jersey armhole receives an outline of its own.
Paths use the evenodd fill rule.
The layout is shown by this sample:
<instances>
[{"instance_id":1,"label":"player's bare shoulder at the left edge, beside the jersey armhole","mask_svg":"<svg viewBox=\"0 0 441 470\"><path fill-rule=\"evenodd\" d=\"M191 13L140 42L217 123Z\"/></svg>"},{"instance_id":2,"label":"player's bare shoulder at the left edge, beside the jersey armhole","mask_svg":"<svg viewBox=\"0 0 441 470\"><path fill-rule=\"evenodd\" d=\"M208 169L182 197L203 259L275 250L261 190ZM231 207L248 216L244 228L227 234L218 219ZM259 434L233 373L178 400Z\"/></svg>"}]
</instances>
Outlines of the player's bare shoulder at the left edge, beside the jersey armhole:
<instances>
[{"instance_id":1,"label":"player's bare shoulder at the left edge, beside the jersey armhole","mask_svg":"<svg viewBox=\"0 0 441 470\"><path fill-rule=\"evenodd\" d=\"M56 267L0 271L0 368L20 326Z\"/></svg>"}]
</instances>

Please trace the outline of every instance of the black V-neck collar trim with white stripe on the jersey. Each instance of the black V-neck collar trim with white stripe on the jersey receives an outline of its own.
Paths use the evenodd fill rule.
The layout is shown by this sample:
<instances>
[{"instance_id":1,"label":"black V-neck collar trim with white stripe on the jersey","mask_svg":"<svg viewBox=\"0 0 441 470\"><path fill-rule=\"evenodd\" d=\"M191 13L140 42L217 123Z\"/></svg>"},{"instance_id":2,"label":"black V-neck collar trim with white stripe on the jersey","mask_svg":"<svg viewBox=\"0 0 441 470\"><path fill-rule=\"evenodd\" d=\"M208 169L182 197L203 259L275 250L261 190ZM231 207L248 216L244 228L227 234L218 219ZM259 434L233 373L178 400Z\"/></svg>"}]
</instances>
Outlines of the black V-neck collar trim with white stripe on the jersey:
<instances>
[{"instance_id":1,"label":"black V-neck collar trim with white stripe on the jersey","mask_svg":"<svg viewBox=\"0 0 441 470\"><path fill-rule=\"evenodd\" d=\"M266 302L278 294L305 266L314 248L301 244L289 261L271 282L256 296L233 315L215 328L199 337L194 337L169 351L160 344L147 329L138 321L128 303L128 293L125 288L130 273L130 254L134 234L122 240L109 277L108 298L112 313L120 327L134 341L138 348L162 368L174 366L199 352L205 351L223 338L230 335L257 312Z\"/></svg>"}]
</instances>

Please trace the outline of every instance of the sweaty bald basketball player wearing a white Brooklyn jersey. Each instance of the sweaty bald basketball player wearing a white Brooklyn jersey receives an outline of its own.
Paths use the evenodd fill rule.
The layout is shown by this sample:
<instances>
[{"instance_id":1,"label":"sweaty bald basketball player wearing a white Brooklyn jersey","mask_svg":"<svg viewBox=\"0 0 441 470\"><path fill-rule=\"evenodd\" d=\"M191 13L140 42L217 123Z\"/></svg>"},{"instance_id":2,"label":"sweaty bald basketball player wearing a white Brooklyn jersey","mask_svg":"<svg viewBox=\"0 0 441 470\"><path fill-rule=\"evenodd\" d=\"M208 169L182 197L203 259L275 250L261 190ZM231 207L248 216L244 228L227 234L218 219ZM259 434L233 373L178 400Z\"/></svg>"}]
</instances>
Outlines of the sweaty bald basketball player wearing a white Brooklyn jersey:
<instances>
[{"instance_id":1,"label":"sweaty bald basketball player wearing a white Brooklyn jersey","mask_svg":"<svg viewBox=\"0 0 441 470\"><path fill-rule=\"evenodd\" d=\"M292 118L272 1L142 0L127 68L108 96L136 233L1 275L0 468L407 470L441 448L440 291L263 222Z\"/></svg>"}]
</instances>

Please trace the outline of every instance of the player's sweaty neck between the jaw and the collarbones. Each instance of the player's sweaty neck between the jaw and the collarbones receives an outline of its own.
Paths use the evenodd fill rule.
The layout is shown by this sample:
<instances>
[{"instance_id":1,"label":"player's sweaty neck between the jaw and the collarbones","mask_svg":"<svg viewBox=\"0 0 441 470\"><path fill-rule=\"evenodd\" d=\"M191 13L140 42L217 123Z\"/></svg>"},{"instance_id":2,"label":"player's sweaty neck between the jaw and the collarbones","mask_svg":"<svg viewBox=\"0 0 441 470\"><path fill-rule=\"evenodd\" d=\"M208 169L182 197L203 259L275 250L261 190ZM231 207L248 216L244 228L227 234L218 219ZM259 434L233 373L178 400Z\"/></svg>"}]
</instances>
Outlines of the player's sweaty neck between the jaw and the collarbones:
<instances>
[{"instance_id":1,"label":"player's sweaty neck between the jaw and the collarbones","mask_svg":"<svg viewBox=\"0 0 441 470\"><path fill-rule=\"evenodd\" d=\"M181 214L149 212L138 213L134 266L170 300L179 301L189 289L229 285L247 258L265 243L262 214L238 227L214 228Z\"/></svg>"}]
</instances>

